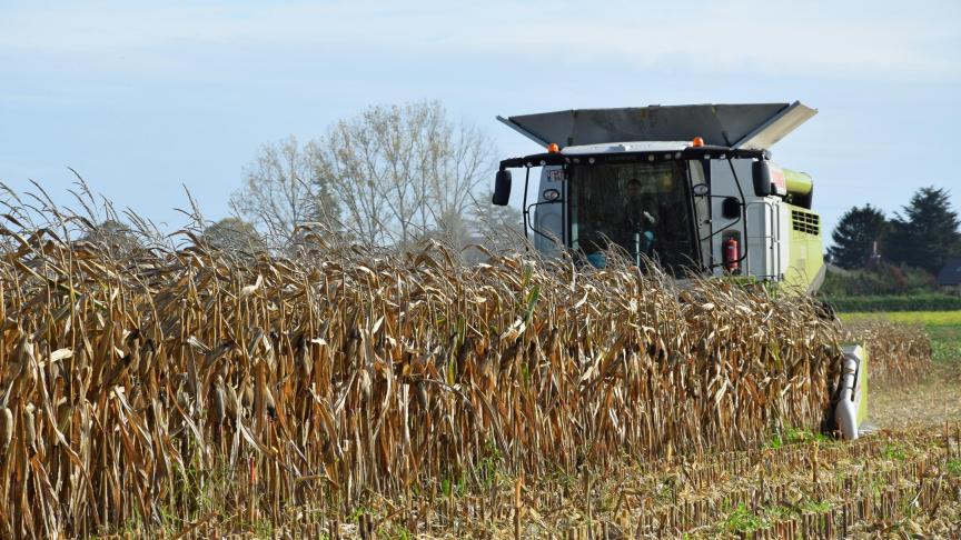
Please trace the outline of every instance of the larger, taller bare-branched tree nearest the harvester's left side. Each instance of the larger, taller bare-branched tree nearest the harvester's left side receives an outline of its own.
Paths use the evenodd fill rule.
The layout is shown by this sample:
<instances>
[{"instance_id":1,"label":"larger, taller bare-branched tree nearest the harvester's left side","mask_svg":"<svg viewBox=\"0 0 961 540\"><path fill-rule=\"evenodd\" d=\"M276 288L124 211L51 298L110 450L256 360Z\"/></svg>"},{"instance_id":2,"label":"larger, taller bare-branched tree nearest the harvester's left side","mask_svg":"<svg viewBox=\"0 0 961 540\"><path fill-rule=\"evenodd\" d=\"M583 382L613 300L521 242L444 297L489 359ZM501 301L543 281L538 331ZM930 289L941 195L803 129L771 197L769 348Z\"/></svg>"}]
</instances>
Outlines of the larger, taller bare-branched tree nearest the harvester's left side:
<instances>
[{"instance_id":1,"label":"larger, taller bare-branched tree nearest the harvester's left side","mask_svg":"<svg viewBox=\"0 0 961 540\"><path fill-rule=\"evenodd\" d=\"M346 226L370 243L406 246L463 227L472 192L493 170L491 138L454 124L436 101L371 107L337 122L311 149Z\"/></svg>"}]
</instances>

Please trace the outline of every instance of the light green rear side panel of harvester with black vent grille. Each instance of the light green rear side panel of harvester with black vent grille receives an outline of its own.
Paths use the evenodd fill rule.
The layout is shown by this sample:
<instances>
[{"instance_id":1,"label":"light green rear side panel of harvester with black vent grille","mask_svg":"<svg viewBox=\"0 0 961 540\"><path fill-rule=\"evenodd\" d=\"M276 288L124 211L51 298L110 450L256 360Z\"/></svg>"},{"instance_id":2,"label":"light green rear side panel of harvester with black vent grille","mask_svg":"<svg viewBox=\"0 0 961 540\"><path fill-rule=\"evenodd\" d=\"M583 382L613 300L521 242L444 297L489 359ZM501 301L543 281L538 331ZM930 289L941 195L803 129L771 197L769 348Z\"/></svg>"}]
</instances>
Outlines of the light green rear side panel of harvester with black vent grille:
<instances>
[{"instance_id":1,"label":"light green rear side panel of harvester with black vent grille","mask_svg":"<svg viewBox=\"0 0 961 540\"><path fill-rule=\"evenodd\" d=\"M821 217L793 204L786 204L786 208L789 226L785 231L787 263L784 266L784 286L787 290L805 292L824 266Z\"/></svg>"}]
</instances>

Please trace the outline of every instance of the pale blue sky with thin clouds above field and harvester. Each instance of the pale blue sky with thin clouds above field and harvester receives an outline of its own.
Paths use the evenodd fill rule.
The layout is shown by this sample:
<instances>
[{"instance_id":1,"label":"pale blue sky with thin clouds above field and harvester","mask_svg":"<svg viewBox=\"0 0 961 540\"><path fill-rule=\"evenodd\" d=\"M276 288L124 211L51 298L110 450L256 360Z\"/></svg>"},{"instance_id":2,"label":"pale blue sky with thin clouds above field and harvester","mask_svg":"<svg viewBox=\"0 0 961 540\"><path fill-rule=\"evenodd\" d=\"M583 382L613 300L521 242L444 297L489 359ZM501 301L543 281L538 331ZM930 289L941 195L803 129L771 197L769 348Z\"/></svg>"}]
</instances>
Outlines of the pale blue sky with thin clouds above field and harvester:
<instances>
[{"instance_id":1,"label":"pale blue sky with thin clouds above field and harvester","mask_svg":"<svg viewBox=\"0 0 961 540\"><path fill-rule=\"evenodd\" d=\"M181 184L219 219L262 143L424 99L501 157L538 149L496 114L801 100L772 150L829 227L927 184L961 209L959 96L957 1L0 0L0 181L69 202L69 166L171 230Z\"/></svg>"}]
</instances>

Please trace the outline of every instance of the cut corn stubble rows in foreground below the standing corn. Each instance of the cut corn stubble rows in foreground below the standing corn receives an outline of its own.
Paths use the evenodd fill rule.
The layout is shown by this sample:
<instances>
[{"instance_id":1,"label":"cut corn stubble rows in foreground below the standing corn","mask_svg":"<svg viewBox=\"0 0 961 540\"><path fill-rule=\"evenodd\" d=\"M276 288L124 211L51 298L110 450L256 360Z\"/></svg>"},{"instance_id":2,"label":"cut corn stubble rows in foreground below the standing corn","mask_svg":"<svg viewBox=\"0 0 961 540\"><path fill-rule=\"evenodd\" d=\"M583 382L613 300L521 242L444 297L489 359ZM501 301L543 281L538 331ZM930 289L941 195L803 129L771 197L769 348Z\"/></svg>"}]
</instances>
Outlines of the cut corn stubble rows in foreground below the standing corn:
<instances>
[{"instance_id":1,"label":"cut corn stubble rows in foreground below the standing corn","mask_svg":"<svg viewBox=\"0 0 961 540\"><path fill-rule=\"evenodd\" d=\"M792 443L582 470L584 488L499 479L486 493L422 493L351 517L291 514L274 538L924 538L961 533L958 424L854 443ZM623 467L622 467L623 466ZM516 488L521 487L521 491ZM740 519L739 519L740 518ZM188 538L255 538L207 519Z\"/></svg>"}]
</instances>

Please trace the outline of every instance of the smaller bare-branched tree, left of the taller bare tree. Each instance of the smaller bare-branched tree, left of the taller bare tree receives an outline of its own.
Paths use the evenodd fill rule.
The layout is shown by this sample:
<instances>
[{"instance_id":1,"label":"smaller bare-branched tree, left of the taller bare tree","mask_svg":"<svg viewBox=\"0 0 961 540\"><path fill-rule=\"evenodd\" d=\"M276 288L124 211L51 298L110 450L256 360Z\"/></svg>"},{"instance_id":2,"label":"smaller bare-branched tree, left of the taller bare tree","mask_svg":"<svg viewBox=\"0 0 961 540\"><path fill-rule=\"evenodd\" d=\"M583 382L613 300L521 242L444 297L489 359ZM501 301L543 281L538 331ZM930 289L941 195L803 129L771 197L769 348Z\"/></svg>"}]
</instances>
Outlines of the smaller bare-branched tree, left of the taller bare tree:
<instances>
[{"instance_id":1,"label":"smaller bare-branched tree, left of the taller bare tree","mask_svg":"<svg viewBox=\"0 0 961 540\"><path fill-rule=\"evenodd\" d=\"M290 242L300 223L336 227L337 198L317 176L316 153L314 143L301 148L294 136L265 144L245 171L242 187L230 197L230 207L278 246Z\"/></svg>"}]
</instances>

